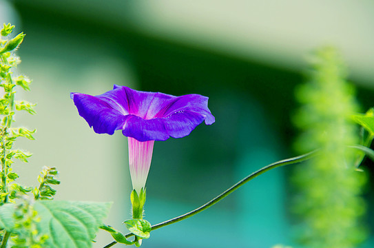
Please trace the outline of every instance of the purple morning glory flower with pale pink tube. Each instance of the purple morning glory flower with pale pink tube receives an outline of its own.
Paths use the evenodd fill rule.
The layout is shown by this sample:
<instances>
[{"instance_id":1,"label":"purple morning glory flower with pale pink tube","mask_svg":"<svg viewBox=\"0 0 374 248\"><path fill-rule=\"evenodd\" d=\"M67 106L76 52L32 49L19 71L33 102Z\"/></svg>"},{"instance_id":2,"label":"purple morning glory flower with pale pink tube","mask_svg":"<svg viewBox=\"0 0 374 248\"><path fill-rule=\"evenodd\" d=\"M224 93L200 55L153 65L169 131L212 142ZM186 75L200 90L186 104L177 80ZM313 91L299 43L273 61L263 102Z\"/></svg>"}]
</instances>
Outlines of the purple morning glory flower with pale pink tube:
<instances>
[{"instance_id":1,"label":"purple morning glory flower with pale pink tube","mask_svg":"<svg viewBox=\"0 0 374 248\"><path fill-rule=\"evenodd\" d=\"M182 138L202 121L207 125L215 121L208 98L198 94L172 96L114 85L113 90L98 96L72 93L70 97L96 133L122 130L128 137L130 174L138 194L145 187L154 141Z\"/></svg>"}]
</instances>

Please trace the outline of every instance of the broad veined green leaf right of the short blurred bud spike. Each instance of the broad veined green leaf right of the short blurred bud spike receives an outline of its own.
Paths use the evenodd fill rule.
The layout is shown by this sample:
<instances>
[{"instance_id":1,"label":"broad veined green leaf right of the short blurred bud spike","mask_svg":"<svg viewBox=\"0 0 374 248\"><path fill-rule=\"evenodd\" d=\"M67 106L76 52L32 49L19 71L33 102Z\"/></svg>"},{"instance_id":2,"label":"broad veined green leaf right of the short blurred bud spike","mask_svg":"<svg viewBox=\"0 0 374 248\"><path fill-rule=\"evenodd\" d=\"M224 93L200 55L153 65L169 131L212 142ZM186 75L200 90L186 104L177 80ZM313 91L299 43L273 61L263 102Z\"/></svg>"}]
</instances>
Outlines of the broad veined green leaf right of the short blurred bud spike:
<instances>
[{"instance_id":1,"label":"broad veined green leaf right of the short blurred bud spike","mask_svg":"<svg viewBox=\"0 0 374 248\"><path fill-rule=\"evenodd\" d=\"M47 234L46 248L92 247L98 227L107 216L111 203L39 200L34 204L41 220L37 229Z\"/></svg>"}]
</instances>

